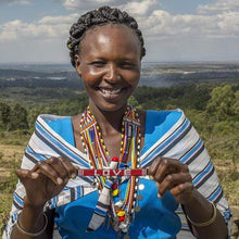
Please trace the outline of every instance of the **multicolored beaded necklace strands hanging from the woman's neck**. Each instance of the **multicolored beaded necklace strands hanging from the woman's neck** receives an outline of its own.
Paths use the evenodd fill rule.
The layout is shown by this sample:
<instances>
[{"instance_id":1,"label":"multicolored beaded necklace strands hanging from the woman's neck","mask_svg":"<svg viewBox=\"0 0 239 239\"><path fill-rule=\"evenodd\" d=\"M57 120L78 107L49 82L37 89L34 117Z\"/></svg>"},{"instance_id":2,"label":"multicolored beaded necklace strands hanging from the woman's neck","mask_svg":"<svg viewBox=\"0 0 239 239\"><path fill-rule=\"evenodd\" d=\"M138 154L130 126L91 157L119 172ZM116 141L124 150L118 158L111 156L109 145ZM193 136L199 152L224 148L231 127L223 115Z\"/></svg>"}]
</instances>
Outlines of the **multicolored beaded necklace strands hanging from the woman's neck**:
<instances>
[{"instance_id":1,"label":"multicolored beaded necklace strands hanging from the woman's neck","mask_svg":"<svg viewBox=\"0 0 239 239\"><path fill-rule=\"evenodd\" d=\"M102 134L96 117L90 112L89 106L85 110L80 120L80 136L85 153L89 156L90 166L93 169L109 168L110 153L104 144ZM131 168L138 168L139 153L140 153L140 121L136 109L131 105L127 110L122 121L122 141L118 167L127 167L127 160L131 158ZM128 238L128 229L130 221L136 211L140 207L137 205L141 197L138 196L138 181L136 176L128 177L126 192L124 199L121 198L118 185L127 178L118 177L114 179L111 187L111 203L109 210L109 217L111 225L120 234L125 234ZM98 176L95 178L99 192L103 189L106 181L105 176Z\"/></svg>"}]
</instances>

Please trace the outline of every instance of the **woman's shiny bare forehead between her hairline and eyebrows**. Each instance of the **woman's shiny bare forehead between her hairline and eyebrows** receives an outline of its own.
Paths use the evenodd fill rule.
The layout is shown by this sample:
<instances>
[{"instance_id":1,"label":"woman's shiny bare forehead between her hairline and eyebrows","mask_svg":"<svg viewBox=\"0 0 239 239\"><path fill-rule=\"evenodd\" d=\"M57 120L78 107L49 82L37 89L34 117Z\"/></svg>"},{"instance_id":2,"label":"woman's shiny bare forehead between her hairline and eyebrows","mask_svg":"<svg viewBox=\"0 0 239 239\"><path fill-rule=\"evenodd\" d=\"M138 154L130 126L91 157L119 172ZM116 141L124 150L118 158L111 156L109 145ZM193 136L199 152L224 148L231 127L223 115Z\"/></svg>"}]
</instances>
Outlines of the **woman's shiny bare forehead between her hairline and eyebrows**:
<instances>
[{"instance_id":1,"label":"woman's shiny bare forehead between her hairline and eyebrows","mask_svg":"<svg viewBox=\"0 0 239 239\"><path fill-rule=\"evenodd\" d=\"M140 54L138 36L123 24L96 26L86 32L80 43L80 54L111 52L118 54Z\"/></svg>"}]
</instances>

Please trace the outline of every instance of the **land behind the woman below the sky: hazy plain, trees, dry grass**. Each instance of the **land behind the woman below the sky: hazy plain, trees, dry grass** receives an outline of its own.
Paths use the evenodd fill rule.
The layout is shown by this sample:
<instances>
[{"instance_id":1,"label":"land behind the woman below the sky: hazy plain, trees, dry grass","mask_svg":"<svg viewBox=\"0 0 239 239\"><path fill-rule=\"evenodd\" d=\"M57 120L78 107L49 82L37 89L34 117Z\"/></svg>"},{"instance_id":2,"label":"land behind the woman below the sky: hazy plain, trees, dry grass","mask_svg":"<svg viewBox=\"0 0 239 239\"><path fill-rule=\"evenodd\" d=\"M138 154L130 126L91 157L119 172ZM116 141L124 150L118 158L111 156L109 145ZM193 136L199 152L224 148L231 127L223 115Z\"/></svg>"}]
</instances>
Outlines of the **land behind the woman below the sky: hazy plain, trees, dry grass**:
<instances>
[{"instance_id":1,"label":"land behind the woman below the sky: hazy plain, trees, dry grass","mask_svg":"<svg viewBox=\"0 0 239 239\"><path fill-rule=\"evenodd\" d=\"M143 62L129 103L181 109L212 156L239 224L239 63ZM68 64L0 64L0 229L8 221L25 147L38 114L75 115L88 104ZM234 238L238 238L234 226Z\"/></svg>"}]
</instances>

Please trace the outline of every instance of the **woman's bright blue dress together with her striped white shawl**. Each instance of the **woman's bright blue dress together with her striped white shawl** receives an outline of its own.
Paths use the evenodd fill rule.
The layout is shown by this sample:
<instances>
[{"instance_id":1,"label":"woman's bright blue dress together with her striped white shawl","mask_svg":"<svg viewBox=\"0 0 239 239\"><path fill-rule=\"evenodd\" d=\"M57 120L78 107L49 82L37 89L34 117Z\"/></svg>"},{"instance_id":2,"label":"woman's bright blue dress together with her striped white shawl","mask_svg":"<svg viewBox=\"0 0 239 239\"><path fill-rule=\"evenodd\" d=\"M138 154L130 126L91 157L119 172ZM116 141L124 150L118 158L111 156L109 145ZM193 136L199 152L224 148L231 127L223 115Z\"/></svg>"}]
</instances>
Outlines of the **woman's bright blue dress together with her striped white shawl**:
<instances>
[{"instance_id":1,"label":"woman's bright blue dress together with her striped white shawl","mask_svg":"<svg viewBox=\"0 0 239 239\"><path fill-rule=\"evenodd\" d=\"M70 117L48 114L39 115L36 121L35 133L30 137L21 167L32 169L39 161L46 161L51 156L65 156L75 165L88 168L89 159L76 149L74 144ZM147 167L161 156L179 160L188 165L194 188L204 198L212 201L224 216L229 239L232 222L230 209L202 139L180 110L147 112L144 146L139 161L142 167ZM111 229L108 234L105 227L92 231L92 234L86 235L84 232L86 221L92 214L98 199L95 193L96 189L90 187L91 183L91 177L77 177L74 180L70 180L58 196L46 202L46 210L56 209L59 212L59 217L55 218L58 227L53 228L54 239L61 238L59 230L64 238L115 238L114 231ZM164 236L166 236L166 238L175 238L175 231L180 226L178 218L174 214L175 201L168 194L162 201L159 200L155 197L154 183L146 178L141 178L141 183L146 185L147 190L141 192L144 196L142 202L139 202L142 210L136 214L137 221L133 222L130 228L131 237L156 239L165 238ZM124 190L123 187L124 185L122 190ZM25 196L26 191L20 181L13 193L12 210L3 231L3 239L11 238L11 231L22 212ZM161 211L159 211L160 203L163 205L160 209ZM164 213L164 216L160 217L162 213ZM176 214L181 222L177 239L193 239L194 237L190 231L188 221L180 205L178 205ZM168 227L172 230L169 235Z\"/></svg>"}]
</instances>

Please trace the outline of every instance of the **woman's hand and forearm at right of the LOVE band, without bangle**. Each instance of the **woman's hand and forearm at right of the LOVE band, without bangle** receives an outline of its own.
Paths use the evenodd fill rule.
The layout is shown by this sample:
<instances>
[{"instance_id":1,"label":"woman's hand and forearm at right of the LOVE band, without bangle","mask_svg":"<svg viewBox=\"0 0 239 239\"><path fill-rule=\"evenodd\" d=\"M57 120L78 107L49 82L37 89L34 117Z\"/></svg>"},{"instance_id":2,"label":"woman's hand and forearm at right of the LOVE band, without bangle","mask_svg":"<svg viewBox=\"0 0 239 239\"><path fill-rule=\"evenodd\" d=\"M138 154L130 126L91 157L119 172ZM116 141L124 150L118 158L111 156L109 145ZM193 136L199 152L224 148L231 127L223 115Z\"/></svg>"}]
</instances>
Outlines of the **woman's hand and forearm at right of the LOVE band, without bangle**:
<instances>
[{"instance_id":1,"label":"woman's hand and forearm at right of the LOVE band, without bangle","mask_svg":"<svg viewBox=\"0 0 239 239\"><path fill-rule=\"evenodd\" d=\"M173 159L158 159L150 166L149 174L156 183L159 197L163 197L165 191L169 190L175 200L183 205L190 221L201 224L213 217L212 204L192 185L192 178L186 164ZM197 238L227 238L227 227L218 211L210 225L191 226Z\"/></svg>"}]
</instances>

